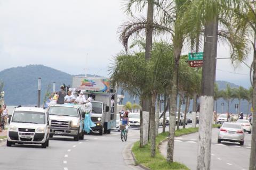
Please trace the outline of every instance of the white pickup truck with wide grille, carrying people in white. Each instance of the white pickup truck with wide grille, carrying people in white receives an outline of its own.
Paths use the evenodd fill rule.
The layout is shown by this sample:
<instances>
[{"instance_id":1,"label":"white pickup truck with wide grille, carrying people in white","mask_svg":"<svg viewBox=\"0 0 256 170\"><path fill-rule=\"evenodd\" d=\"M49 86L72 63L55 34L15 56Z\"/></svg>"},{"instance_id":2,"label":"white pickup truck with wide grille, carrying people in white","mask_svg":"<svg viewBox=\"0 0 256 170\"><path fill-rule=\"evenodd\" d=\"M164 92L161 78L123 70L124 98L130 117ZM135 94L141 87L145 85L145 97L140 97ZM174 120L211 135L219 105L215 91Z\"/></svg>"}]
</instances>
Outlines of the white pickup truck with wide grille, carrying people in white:
<instances>
[{"instance_id":1,"label":"white pickup truck with wide grille, carrying people in white","mask_svg":"<svg viewBox=\"0 0 256 170\"><path fill-rule=\"evenodd\" d=\"M84 139L84 112L77 105L51 105L47 109L50 116L50 138L53 135L74 137L74 141Z\"/></svg>"}]
</instances>

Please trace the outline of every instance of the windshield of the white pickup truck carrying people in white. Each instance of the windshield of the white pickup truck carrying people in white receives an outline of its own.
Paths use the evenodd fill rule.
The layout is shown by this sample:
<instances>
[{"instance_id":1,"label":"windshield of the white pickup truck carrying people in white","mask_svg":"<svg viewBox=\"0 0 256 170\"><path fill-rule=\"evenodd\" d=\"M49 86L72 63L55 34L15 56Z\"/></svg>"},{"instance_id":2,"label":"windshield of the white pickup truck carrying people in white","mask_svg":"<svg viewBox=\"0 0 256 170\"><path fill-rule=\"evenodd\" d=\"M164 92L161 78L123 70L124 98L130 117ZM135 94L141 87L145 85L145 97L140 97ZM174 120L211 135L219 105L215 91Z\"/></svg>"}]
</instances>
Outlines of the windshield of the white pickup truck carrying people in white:
<instances>
[{"instance_id":1,"label":"windshield of the white pickup truck carrying people in white","mask_svg":"<svg viewBox=\"0 0 256 170\"><path fill-rule=\"evenodd\" d=\"M78 117L77 108L74 107L52 106L48 112L49 115Z\"/></svg>"}]
</instances>

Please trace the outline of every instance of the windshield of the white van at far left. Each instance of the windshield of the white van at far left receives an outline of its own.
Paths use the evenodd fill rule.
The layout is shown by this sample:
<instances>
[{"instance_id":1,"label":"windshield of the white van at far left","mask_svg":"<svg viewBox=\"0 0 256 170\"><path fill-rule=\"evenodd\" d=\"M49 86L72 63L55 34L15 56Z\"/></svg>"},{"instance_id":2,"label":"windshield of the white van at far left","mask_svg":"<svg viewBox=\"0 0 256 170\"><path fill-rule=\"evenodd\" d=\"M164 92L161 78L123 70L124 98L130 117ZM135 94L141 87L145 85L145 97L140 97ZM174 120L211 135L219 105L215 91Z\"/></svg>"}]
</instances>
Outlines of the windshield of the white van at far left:
<instances>
[{"instance_id":1,"label":"windshield of the white van at far left","mask_svg":"<svg viewBox=\"0 0 256 170\"><path fill-rule=\"evenodd\" d=\"M12 122L45 124L45 113L15 111L12 116Z\"/></svg>"}]
</instances>

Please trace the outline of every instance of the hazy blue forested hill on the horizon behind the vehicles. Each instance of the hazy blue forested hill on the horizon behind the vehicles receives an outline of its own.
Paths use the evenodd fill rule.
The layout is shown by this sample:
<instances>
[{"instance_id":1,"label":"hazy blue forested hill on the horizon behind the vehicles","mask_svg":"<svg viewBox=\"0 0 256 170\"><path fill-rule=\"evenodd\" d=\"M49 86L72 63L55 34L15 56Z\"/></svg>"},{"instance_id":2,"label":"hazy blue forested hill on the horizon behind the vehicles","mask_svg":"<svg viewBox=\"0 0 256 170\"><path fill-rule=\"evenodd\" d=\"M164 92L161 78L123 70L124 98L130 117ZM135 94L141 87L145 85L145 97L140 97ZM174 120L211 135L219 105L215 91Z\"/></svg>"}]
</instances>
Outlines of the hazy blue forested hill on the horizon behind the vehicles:
<instances>
[{"instance_id":1,"label":"hazy blue forested hill on the horizon behind the vehicles","mask_svg":"<svg viewBox=\"0 0 256 170\"><path fill-rule=\"evenodd\" d=\"M25 67L13 67L11 69L6 69L0 72L0 80L4 82L5 91L5 103L7 105L36 105L37 104L37 79L42 78L42 97L41 103L43 103L43 98L47 90L47 86L52 86L52 83L56 82L56 90L59 90L61 84L65 83L70 85L72 77L74 75L61 72L59 70L52 69L44 65L28 65ZM93 77L94 75L88 74L87 76ZM99 75L96 75L100 77ZM225 89L226 84L230 84L231 88L238 87L234 83L227 81L217 81L219 89ZM52 91L52 87L50 87ZM121 92L121 89L118 90ZM123 103L131 101L133 103L133 96L124 92L125 98ZM138 99L136 102L138 103ZM223 99L218 100L218 113L222 112L221 103L224 102L223 112L226 112L227 104ZM235 113L235 104L238 101L235 99L230 105L230 112ZM191 108L191 106L190 106ZM242 112L247 113L247 101L242 101L241 104Z\"/></svg>"}]
</instances>

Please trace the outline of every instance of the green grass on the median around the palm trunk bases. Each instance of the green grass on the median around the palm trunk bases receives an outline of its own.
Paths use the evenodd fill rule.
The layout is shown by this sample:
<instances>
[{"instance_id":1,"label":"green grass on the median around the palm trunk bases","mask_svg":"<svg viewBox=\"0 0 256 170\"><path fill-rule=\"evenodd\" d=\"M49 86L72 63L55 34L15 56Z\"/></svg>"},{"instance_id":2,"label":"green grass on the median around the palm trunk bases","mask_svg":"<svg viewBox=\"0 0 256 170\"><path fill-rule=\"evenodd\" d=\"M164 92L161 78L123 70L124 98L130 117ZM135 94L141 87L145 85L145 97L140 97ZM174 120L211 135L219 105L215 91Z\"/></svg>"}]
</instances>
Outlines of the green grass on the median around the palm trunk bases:
<instances>
[{"instance_id":1,"label":"green grass on the median around the palm trunk bases","mask_svg":"<svg viewBox=\"0 0 256 170\"><path fill-rule=\"evenodd\" d=\"M158 146L159 143L166 139L163 135L158 135L156 137L156 145ZM156 157L151 158L150 156L150 143L148 145L140 148L140 142L137 141L134 143L134 146L132 147L132 152L137 159L137 164L141 164L143 166L146 166L152 170L167 170L167 169L175 169L175 170L187 170L188 167L186 167L183 164L173 162L173 163L167 163L166 159L161 155L158 147L156 148Z\"/></svg>"}]
</instances>

